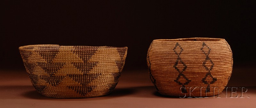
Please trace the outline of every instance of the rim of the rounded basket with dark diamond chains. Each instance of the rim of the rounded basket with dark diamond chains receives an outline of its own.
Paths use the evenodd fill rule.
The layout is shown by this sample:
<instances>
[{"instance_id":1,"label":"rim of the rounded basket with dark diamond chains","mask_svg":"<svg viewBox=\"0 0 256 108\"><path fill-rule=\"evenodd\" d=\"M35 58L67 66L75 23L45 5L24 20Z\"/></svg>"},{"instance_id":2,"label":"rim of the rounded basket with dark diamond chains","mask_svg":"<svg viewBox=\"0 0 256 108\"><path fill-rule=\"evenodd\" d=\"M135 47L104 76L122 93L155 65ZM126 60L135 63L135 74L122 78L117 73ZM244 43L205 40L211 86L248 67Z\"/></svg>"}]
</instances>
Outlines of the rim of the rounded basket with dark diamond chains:
<instances>
[{"instance_id":1,"label":"rim of the rounded basket with dark diamond chains","mask_svg":"<svg viewBox=\"0 0 256 108\"><path fill-rule=\"evenodd\" d=\"M206 37L194 37L194 38L179 38L179 39L155 39L154 42L220 42L226 41L222 38L206 38Z\"/></svg>"}]
</instances>

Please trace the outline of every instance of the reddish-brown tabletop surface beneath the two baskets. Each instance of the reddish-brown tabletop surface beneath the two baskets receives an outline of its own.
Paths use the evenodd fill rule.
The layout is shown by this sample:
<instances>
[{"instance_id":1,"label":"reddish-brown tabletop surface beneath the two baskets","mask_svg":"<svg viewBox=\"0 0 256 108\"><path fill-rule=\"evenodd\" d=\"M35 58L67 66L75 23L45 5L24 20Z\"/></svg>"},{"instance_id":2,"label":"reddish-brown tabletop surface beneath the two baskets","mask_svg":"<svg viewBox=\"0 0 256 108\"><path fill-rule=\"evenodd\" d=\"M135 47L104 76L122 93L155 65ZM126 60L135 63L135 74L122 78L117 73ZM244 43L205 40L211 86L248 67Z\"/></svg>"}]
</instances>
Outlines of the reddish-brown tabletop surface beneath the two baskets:
<instances>
[{"instance_id":1,"label":"reddish-brown tabletop surface beneath the two baskets","mask_svg":"<svg viewBox=\"0 0 256 108\"><path fill-rule=\"evenodd\" d=\"M253 69L235 68L227 87L237 87L231 98L230 89L221 98L179 98L160 95L149 79L147 70L124 70L112 93L107 96L79 99L50 98L40 95L24 70L0 70L0 106L6 107L88 107L88 108L170 108L170 107L255 107L256 87L246 72ZM245 73L244 76L237 73ZM251 83L246 83L251 81ZM242 93L239 87L247 92ZM236 89L236 88L234 88ZM250 97L250 98L249 98Z\"/></svg>"}]
</instances>

